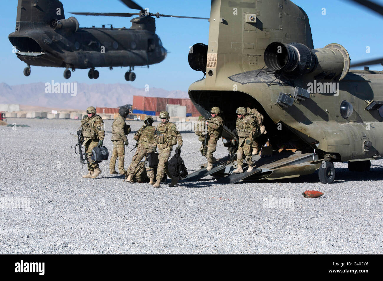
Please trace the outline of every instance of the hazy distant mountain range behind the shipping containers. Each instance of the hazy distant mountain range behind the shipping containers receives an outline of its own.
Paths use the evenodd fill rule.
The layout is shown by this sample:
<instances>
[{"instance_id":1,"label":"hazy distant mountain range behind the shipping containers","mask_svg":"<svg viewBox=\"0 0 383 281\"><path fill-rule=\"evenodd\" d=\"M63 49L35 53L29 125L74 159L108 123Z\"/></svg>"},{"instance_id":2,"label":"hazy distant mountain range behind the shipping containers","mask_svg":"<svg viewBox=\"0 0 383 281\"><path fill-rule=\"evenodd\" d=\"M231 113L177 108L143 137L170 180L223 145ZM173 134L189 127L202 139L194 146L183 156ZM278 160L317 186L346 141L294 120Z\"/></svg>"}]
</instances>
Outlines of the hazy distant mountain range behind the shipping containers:
<instances>
[{"instance_id":1,"label":"hazy distant mountain range behind the shipping containers","mask_svg":"<svg viewBox=\"0 0 383 281\"><path fill-rule=\"evenodd\" d=\"M40 107L84 109L94 107L119 107L132 104L133 95L146 97L189 98L187 92L168 91L159 88L137 89L127 84L86 84L77 83L77 95L47 94L45 83L29 83L10 86L0 83L0 104L22 104Z\"/></svg>"}]
</instances>

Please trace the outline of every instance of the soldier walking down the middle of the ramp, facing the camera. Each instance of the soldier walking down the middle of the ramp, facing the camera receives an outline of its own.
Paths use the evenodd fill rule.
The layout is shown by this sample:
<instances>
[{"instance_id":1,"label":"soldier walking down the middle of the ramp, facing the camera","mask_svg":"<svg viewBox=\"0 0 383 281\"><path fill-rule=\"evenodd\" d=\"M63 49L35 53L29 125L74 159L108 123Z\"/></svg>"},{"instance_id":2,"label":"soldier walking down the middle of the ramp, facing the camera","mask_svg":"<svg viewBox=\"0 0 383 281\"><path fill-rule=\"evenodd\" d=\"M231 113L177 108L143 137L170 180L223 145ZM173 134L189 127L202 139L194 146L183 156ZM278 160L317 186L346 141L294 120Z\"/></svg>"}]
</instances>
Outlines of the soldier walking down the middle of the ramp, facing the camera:
<instances>
[{"instance_id":1,"label":"soldier walking down the middle of the ramp, facing the camera","mask_svg":"<svg viewBox=\"0 0 383 281\"><path fill-rule=\"evenodd\" d=\"M237 134L238 139L238 150L237 150L237 165L238 168L233 173L243 173L243 154L246 156L247 164L249 168L247 172L250 173L254 168L252 161L252 144L254 136L258 133L257 124L255 123L254 117L246 114L246 108L237 108Z\"/></svg>"}]
</instances>

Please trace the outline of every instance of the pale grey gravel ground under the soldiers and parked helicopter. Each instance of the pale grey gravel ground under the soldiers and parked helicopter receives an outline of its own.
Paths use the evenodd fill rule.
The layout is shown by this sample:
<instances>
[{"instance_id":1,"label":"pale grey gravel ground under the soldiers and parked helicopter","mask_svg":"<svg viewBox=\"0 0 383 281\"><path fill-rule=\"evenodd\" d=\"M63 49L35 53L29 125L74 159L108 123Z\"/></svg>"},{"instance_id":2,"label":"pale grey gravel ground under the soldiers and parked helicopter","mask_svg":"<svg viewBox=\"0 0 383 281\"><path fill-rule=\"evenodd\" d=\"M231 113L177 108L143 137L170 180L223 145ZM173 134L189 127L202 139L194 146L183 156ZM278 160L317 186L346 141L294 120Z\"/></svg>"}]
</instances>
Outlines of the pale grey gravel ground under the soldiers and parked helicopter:
<instances>
[{"instance_id":1,"label":"pale grey gravel ground under the soldiers and parked helicopter","mask_svg":"<svg viewBox=\"0 0 383 281\"><path fill-rule=\"evenodd\" d=\"M336 181L326 185L316 173L226 185L207 177L155 189L110 175L108 161L100 164L100 178L83 179L87 170L69 135L79 121L8 118L13 122L30 127L0 126L0 199L30 198L30 207L0 205L2 254L383 253L383 161L372 162L370 173L353 174L337 163ZM105 121L107 131L111 123ZM143 124L130 123L133 131ZM205 158L186 154L199 149L194 133L182 136L191 173ZM111 150L110 138L107 132ZM128 139L133 147L133 134ZM223 146L214 154L225 155ZM307 199L305 190L325 195Z\"/></svg>"}]
</instances>

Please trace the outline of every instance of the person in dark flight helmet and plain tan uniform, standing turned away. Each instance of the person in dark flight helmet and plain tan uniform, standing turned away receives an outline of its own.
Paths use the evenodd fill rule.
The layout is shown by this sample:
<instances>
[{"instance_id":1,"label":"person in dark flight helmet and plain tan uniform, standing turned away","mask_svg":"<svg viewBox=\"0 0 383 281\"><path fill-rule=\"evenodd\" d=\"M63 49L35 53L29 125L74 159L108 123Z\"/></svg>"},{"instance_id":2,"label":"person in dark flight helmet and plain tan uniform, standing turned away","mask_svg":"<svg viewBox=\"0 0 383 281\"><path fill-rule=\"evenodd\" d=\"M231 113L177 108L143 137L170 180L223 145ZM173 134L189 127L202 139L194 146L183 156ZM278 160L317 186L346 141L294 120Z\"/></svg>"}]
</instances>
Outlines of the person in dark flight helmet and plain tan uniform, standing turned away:
<instances>
[{"instance_id":1,"label":"person in dark flight helmet and plain tan uniform, standing turned away","mask_svg":"<svg viewBox=\"0 0 383 281\"><path fill-rule=\"evenodd\" d=\"M124 160L125 160L125 145L129 145L128 135L131 131L129 125L125 123L126 117L128 117L129 109L126 107L120 107L118 110L119 116L113 121L112 124L112 142L113 153L110 158L109 173L117 174L116 172L116 160L118 157L118 172L125 174Z\"/></svg>"}]
</instances>

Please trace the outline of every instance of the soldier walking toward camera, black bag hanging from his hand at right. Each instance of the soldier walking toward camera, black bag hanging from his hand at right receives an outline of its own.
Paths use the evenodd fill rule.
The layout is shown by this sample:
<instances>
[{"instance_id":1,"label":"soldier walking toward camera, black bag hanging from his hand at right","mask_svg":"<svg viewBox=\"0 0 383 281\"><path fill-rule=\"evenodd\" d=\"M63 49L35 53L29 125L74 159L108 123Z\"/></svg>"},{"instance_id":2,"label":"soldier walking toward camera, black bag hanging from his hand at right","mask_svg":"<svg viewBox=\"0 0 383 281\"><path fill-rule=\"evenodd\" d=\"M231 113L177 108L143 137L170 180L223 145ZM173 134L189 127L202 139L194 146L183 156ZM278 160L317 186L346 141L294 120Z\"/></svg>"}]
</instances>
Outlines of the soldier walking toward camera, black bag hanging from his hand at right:
<instances>
[{"instance_id":1,"label":"soldier walking toward camera, black bag hanging from his hand at right","mask_svg":"<svg viewBox=\"0 0 383 281\"><path fill-rule=\"evenodd\" d=\"M182 146L182 136L180 132L177 130L177 127L174 123L169 122L169 112L167 111L161 111L160 112L160 119L161 123L157 126L156 130L156 136L154 138L154 148L153 152L157 150L157 147L159 148L159 155L158 155L158 166L157 166L157 182L153 185L153 187L161 187L160 182L162 178L164 177L164 173L166 173L171 179L172 183L170 186L175 186L177 184L178 179L172 178L170 175L168 169L167 169L167 162L170 157L170 152L173 150L173 145L177 144L177 148L180 149Z\"/></svg>"}]
</instances>

